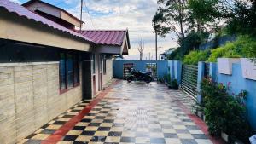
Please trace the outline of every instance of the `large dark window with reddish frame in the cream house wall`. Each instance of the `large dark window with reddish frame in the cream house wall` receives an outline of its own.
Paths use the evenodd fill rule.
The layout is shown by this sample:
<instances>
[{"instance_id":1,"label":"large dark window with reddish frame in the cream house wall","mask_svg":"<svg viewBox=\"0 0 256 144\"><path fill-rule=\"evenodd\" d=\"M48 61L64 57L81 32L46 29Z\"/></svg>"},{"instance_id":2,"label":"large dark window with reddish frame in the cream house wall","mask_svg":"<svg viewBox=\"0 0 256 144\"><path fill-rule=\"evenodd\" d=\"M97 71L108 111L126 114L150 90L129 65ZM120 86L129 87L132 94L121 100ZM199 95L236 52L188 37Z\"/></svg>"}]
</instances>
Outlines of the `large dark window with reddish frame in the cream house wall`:
<instances>
[{"instance_id":1,"label":"large dark window with reddish frame in the cream house wall","mask_svg":"<svg viewBox=\"0 0 256 144\"><path fill-rule=\"evenodd\" d=\"M60 59L60 90L66 92L79 85L79 55L61 53Z\"/></svg>"}]
</instances>

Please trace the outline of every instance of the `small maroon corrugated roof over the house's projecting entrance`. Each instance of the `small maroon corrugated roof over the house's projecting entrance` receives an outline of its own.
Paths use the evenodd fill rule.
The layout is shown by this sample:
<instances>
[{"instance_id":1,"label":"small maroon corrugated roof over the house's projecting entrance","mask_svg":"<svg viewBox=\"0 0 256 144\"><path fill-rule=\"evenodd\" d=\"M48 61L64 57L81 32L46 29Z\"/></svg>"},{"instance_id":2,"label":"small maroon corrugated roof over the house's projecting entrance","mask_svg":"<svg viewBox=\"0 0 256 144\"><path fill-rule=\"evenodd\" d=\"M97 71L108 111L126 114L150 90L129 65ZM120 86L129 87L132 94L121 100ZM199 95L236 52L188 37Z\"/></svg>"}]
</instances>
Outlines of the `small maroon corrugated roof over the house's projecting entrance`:
<instances>
[{"instance_id":1,"label":"small maroon corrugated roof over the house's projecting entrance","mask_svg":"<svg viewBox=\"0 0 256 144\"><path fill-rule=\"evenodd\" d=\"M126 34L126 30L85 30L78 32L81 33L84 37L92 40L94 43L119 46L123 44Z\"/></svg>"}]
</instances>

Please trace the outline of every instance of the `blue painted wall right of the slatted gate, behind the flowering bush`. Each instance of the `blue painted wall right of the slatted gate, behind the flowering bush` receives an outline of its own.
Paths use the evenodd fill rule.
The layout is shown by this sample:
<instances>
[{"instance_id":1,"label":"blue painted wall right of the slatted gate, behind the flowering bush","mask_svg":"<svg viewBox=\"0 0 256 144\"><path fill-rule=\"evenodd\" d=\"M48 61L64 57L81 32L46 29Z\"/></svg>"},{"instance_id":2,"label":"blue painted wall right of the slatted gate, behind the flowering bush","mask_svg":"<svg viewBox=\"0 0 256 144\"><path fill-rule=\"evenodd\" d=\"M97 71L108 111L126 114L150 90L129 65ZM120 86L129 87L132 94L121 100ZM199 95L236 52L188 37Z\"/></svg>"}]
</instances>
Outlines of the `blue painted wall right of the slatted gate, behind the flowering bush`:
<instances>
[{"instance_id":1,"label":"blue painted wall right of the slatted gate, behind the flowering bush","mask_svg":"<svg viewBox=\"0 0 256 144\"><path fill-rule=\"evenodd\" d=\"M242 77L241 64L233 64L232 75L218 73L218 66L215 68L218 83L227 85L230 82L230 91L232 93L237 95L241 92L241 90L247 90L248 95L246 100L246 107L248 119L253 127L253 130L256 130L256 81Z\"/></svg>"}]
</instances>

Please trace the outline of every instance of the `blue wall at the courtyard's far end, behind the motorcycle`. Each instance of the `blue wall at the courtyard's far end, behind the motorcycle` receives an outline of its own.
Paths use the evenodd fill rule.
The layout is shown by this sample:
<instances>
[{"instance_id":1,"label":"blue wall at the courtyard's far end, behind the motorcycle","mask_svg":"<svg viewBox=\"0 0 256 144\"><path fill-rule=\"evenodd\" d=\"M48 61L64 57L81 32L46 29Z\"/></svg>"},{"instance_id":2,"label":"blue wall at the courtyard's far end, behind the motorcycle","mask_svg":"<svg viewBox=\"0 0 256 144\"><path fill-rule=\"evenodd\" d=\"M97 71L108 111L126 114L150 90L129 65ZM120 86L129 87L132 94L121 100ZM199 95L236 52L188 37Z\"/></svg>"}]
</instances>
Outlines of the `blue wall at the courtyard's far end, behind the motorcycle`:
<instances>
[{"instance_id":1,"label":"blue wall at the courtyard's far end, behind the motorcycle","mask_svg":"<svg viewBox=\"0 0 256 144\"><path fill-rule=\"evenodd\" d=\"M146 71L147 63L155 63L155 60L113 60L113 78L123 78L124 64L133 63L136 70ZM157 78L162 78L168 74L168 61L157 61Z\"/></svg>"}]
</instances>

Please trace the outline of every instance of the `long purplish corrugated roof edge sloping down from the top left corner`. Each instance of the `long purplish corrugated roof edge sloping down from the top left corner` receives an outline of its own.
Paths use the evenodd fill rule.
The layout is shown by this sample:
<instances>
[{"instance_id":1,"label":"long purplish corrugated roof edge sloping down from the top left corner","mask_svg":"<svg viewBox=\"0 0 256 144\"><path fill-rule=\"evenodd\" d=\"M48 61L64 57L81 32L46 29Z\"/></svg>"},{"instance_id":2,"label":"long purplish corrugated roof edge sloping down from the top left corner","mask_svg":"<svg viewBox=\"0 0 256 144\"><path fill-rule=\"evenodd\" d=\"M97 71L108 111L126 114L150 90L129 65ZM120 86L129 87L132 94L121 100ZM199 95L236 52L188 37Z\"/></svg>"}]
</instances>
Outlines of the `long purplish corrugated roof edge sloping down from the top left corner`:
<instances>
[{"instance_id":1,"label":"long purplish corrugated roof edge sloping down from the top left corner","mask_svg":"<svg viewBox=\"0 0 256 144\"><path fill-rule=\"evenodd\" d=\"M19 16L25 16L29 20L35 20L37 22L41 22L44 25L47 25L49 27L53 27L57 30L60 30L62 32L67 32L69 34L72 34L73 36L76 37L81 37L84 40L93 42L90 40L88 37L84 37L78 32L73 32L72 30L67 29L64 26L61 26L51 20L45 19L44 17L33 13L32 11L29 11L28 9L24 8L23 6L20 6L18 3L10 2L9 0L0 0L0 8L3 7L4 9L7 9L10 13L15 13L18 14Z\"/></svg>"}]
</instances>

